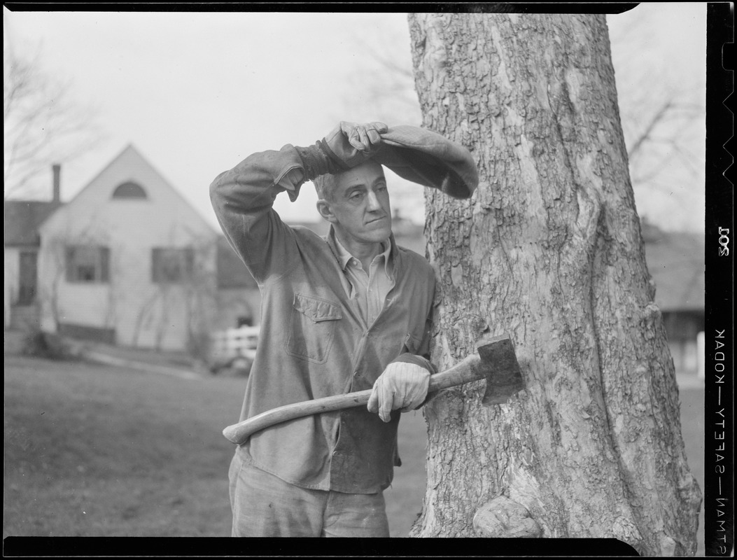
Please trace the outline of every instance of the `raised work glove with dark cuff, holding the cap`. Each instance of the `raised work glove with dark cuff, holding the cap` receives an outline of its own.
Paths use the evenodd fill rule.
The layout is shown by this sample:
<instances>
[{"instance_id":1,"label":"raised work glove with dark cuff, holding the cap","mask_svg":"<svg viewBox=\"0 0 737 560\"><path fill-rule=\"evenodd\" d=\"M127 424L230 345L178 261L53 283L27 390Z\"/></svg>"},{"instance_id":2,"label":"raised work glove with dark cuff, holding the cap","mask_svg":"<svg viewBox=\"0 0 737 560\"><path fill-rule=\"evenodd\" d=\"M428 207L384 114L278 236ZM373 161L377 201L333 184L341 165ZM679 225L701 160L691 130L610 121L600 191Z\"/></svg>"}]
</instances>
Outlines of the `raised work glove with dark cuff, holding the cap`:
<instances>
[{"instance_id":1,"label":"raised work glove with dark cuff, holding the cap","mask_svg":"<svg viewBox=\"0 0 737 560\"><path fill-rule=\"evenodd\" d=\"M340 173L371 159L381 144L381 133L389 130L383 122L357 125L341 121L314 146L296 147L307 179L326 173Z\"/></svg>"}]
</instances>

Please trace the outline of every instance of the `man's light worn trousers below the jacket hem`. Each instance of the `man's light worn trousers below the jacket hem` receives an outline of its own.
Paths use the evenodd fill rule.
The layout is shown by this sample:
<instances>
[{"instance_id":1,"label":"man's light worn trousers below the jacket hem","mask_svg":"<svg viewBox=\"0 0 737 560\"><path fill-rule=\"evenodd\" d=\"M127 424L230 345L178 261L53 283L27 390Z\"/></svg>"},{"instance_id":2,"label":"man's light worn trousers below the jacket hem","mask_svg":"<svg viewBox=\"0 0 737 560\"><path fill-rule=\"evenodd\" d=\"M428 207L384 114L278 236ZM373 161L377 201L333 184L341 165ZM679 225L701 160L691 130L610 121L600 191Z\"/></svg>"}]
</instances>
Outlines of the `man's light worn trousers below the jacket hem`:
<instances>
[{"instance_id":1,"label":"man's light worn trousers below the jacket hem","mask_svg":"<svg viewBox=\"0 0 737 560\"><path fill-rule=\"evenodd\" d=\"M304 489L246 463L238 453L228 478L231 536L389 536L383 492Z\"/></svg>"}]
</instances>

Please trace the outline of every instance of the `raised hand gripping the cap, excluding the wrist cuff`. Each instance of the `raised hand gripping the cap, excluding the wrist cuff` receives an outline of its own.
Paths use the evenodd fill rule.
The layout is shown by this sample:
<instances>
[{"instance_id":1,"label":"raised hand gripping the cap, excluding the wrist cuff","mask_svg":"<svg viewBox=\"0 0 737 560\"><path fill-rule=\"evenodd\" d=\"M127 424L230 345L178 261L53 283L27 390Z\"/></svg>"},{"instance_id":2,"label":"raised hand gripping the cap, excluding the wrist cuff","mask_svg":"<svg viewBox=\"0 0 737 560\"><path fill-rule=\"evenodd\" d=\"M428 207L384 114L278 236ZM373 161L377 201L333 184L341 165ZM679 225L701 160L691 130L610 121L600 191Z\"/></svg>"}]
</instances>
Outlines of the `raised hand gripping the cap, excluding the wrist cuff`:
<instances>
[{"instance_id":1,"label":"raised hand gripping the cap, excluding the wrist cuff","mask_svg":"<svg viewBox=\"0 0 737 560\"><path fill-rule=\"evenodd\" d=\"M380 133L389 130L383 122L368 122L357 125L354 122L340 122L320 142L321 149L333 164L341 169L350 169L371 158L381 144Z\"/></svg>"}]
</instances>

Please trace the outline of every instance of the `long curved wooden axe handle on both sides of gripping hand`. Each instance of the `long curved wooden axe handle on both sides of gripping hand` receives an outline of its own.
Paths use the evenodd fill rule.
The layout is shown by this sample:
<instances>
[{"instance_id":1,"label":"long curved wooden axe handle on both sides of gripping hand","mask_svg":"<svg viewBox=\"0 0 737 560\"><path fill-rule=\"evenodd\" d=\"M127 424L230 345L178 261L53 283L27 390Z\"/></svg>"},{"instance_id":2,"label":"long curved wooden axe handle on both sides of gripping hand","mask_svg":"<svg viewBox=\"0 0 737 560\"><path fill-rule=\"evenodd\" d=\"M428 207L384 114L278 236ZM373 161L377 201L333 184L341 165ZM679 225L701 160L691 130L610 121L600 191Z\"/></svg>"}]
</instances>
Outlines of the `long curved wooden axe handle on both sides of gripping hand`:
<instances>
[{"instance_id":1,"label":"long curved wooden axe handle on both sides of gripping hand","mask_svg":"<svg viewBox=\"0 0 737 560\"><path fill-rule=\"evenodd\" d=\"M486 379L486 376L487 368L481 367L481 357L478 354L471 354L452 368L441 371L439 374L431 375L430 386L427 392L433 393L434 391L455 387L456 385L462 385L471 381ZM245 443L252 434L274 424L281 424L282 422L302 418L303 416L312 416L312 414L366 405L369 396L371 396L371 389L346 393L344 395L326 396L322 399L314 399L312 401L295 402L292 405L284 405L283 407L267 410L237 424L228 426L223 430L223 435L234 444L240 445Z\"/></svg>"}]
</instances>

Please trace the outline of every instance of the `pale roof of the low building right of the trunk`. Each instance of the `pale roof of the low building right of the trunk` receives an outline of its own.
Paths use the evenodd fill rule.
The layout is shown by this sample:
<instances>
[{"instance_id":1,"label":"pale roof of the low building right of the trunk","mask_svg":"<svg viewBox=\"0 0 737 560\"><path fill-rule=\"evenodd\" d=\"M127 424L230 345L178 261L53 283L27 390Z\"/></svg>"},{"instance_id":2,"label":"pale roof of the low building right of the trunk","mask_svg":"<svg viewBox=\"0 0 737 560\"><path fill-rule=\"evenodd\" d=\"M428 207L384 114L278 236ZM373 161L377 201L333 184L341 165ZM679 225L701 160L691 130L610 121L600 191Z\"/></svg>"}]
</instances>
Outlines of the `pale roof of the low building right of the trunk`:
<instances>
[{"instance_id":1,"label":"pale roof of the low building right of the trunk","mask_svg":"<svg viewBox=\"0 0 737 560\"><path fill-rule=\"evenodd\" d=\"M645 259L662 311L704 311L705 240L702 234L650 230Z\"/></svg>"}]
</instances>

